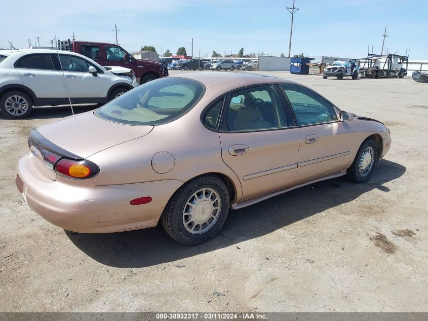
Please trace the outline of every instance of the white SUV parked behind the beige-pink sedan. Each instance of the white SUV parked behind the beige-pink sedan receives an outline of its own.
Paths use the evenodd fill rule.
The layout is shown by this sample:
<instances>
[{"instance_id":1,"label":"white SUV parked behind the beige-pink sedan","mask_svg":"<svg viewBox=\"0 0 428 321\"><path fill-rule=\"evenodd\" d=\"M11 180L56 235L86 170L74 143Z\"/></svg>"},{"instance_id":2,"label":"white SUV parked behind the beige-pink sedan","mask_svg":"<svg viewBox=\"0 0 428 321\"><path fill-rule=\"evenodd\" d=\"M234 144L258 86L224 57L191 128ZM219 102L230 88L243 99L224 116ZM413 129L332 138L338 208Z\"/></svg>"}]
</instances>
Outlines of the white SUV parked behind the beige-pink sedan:
<instances>
[{"instance_id":1,"label":"white SUV parked behind the beige-pink sedan","mask_svg":"<svg viewBox=\"0 0 428 321\"><path fill-rule=\"evenodd\" d=\"M69 51L2 50L0 111L25 118L33 106L68 104L68 97L72 103L105 103L138 86L131 69L110 69Z\"/></svg>"}]
</instances>

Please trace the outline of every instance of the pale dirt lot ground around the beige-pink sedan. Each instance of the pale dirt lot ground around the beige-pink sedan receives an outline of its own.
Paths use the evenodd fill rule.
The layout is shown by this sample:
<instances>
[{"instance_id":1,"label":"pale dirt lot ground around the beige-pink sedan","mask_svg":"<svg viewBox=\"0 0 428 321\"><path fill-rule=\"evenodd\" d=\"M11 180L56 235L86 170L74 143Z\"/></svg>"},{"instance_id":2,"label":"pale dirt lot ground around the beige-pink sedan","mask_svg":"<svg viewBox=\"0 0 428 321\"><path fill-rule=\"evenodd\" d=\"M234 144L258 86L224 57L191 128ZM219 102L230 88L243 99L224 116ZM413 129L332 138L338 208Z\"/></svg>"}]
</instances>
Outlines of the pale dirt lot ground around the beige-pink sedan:
<instances>
[{"instance_id":1,"label":"pale dirt lot ground around the beige-pink sedan","mask_svg":"<svg viewBox=\"0 0 428 321\"><path fill-rule=\"evenodd\" d=\"M391 151L366 184L335 179L231 211L196 247L161 226L77 234L38 217L15 165L29 130L69 108L0 116L0 311L427 311L428 84L269 75L381 120Z\"/></svg>"}]
</instances>

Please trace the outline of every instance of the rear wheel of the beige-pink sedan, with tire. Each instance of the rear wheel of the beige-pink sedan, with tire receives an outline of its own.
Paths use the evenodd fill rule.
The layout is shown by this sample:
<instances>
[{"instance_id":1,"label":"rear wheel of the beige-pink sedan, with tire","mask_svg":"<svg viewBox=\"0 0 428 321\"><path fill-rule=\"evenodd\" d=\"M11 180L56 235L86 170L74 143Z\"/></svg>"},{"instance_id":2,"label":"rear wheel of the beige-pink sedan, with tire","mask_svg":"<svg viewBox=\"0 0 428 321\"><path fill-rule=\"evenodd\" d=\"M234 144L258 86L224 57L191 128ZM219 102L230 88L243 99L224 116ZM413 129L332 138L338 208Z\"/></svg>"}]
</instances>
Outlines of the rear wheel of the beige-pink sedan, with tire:
<instances>
[{"instance_id":1,"label":"rear wheel of the beige-pink sedan, with tire","mask_svg":"<svg viewBox=\"0 0 428 321\"><path fill-rule=\"evenodd\" d=\"M161 221L167 233L185 245L212 238L229 211L229 192L214 175L200 176L180 187L169 200Z\"/></svg>"}]
</instances>

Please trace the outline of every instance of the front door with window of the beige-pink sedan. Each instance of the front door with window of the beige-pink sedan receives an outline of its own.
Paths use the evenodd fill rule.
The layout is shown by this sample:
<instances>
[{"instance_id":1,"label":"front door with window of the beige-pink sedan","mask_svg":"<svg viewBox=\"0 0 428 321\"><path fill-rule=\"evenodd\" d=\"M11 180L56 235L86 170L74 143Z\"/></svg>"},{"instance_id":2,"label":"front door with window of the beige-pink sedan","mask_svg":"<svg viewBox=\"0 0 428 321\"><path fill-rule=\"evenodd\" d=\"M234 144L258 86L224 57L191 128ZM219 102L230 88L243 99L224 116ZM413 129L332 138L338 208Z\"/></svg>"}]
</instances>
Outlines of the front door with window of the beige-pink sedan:
<instances>
[{"instance_id":1,"label":"front door with window of the beige-pink sedan","mask_svg":"<svg viewBox=\"0 0 428 321\"><path fill-rule=\"evenodd\" d=\"M295 184L345 170L352 163L351 128L322 96L296 84L281 84L302 137Z\"/></svg>"}]
</instances>

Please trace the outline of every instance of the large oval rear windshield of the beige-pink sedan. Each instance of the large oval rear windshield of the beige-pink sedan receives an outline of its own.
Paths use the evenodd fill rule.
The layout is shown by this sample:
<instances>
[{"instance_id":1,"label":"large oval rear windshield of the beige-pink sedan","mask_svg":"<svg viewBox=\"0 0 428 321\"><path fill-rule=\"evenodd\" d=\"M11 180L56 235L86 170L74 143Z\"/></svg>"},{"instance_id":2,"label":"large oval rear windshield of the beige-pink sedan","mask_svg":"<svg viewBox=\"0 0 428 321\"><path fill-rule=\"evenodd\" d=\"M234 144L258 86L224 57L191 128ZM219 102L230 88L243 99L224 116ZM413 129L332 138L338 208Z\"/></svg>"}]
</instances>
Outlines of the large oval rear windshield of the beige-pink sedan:
<instances>
[{"instance_id":1,"label":"large oval rear windshield of the beige-pink sedan","mask_svg":"<svg viewBox=\"0 0 428 321\"><path fill-rule=\"evenodd\" d=\"M108 102L95 115L121 124L151 126L173 121L189 111L204 94L200 82L167 77L145 83Z\"/></svg>"}]
</instances>

